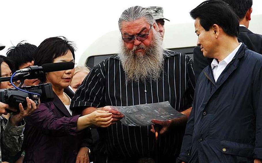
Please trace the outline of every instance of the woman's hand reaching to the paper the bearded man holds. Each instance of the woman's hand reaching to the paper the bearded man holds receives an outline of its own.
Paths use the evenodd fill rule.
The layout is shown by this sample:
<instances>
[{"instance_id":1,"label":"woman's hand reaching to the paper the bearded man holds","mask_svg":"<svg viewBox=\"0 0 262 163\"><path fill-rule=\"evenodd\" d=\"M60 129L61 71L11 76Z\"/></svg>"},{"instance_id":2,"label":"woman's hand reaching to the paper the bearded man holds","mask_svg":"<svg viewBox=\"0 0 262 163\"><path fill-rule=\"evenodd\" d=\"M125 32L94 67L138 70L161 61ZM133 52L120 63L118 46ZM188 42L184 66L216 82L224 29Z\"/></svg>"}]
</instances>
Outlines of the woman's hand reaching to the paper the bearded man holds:
<instances>
[{"instance_id":1,"label":"woman's hand reaching to the paper the bearded man holds","mask_svg":"<svg viewBox=\"0 0 262 163\"><path fill-rule=\"evenodd\" d=\"M97 127L108 127L112 124L112 113L104 110L95 110L86 115L90 119L90 123Z\"/></svg>"}]
</instances>

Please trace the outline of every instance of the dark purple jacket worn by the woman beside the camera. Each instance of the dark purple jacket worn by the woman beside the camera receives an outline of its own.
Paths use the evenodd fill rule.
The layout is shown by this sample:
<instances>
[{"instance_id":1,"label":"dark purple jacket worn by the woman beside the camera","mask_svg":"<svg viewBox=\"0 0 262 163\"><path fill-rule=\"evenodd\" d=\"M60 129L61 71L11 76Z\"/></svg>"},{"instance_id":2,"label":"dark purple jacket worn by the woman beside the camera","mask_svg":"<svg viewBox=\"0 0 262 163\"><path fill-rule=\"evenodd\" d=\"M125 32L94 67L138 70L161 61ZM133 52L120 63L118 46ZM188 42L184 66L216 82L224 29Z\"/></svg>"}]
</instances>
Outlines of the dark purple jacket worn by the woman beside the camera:
<instances>
[{"instance_id":1,"label":"dark purple jacket worn by the woman beside the camera","mask_svg":"<svg viewBox=\"0 0 262 163\"><path fill-rule=\"evenodd\" d=\"M55 93L52 102L40 104L26 118L24 162L75 162L82 143L76 132L79 116L71 116Z\"/></svg>"}]
</instances>

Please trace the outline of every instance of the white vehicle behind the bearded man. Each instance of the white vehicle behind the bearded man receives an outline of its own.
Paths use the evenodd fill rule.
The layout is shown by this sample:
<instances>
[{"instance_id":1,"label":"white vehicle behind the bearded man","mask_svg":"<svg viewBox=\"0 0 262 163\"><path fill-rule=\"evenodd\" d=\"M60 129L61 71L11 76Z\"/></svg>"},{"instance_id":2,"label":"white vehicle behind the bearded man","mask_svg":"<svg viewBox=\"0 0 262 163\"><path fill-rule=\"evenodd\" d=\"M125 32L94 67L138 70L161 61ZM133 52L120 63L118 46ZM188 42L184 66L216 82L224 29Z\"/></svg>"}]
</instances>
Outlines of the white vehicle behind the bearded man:
<instances>
[{"instance_id":1,"label":"white vehicle behind the bearded man","mask_svg":"<svg viewBox=\"0 0 262 163\"><path fill-rule=\"evenodd\" d=\"M252 15L249 30L262 34L262 15ZM79 59L79 65L92 68L107 57L119 52L121 33L119 30L108 32L94 41ZM181 52L193 58L193 49L196 46L197 35L194 23L165 25L163 46L172 51Z\"/></svg>"}]
</instances>

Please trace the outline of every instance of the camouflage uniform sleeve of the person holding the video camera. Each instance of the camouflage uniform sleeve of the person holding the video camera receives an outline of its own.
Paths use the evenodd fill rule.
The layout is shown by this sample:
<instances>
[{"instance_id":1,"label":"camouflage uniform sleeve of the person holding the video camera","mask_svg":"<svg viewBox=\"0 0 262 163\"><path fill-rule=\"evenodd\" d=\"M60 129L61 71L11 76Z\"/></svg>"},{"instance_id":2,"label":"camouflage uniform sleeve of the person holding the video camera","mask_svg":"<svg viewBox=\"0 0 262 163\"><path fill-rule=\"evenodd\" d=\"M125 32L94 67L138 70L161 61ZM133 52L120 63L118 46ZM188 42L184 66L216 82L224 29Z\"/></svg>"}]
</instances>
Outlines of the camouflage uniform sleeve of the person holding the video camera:
<instances>
[{"instance_id":1,"label":"camouflage uniform sleeve of the person holding the video camera","mask_svg":"<svg viewBox=\"0 0 262 163\"><path fill-rule=\"evenodd\" d=\"M10 121L6 121L5 118L1 118L1 156L3 161L8 161L14 157L22 147L24 140L24 125L23 120L20 126L14 127ZM11 118L11 117L10 117ZM9 118L9 119L10 119Z\"/></svg>"}]
</instances>

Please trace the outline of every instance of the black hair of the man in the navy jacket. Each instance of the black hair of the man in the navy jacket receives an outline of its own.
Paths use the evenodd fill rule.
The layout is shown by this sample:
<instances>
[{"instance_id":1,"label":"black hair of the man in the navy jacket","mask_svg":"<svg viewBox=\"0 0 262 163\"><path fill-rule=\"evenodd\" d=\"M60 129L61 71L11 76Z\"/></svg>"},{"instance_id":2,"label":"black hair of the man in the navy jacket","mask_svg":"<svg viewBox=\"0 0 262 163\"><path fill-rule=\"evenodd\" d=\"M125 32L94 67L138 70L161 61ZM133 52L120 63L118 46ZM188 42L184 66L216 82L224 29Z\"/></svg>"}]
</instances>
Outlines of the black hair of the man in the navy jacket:
<instances>
[{"instance_id":1,"label":"black hair of the man in the navy jacket","mask_svg":"<svg viewBox=\"0 0 262 163\"><path fill-rule=\"evenodd\" d=\"M198 7L190 11L193 19L200 19L200 25L209 31L212 25L217 24L229 36L238 36L238 16L222 0L208 0L202 2Z\"/></svg>"}]
</instances>

